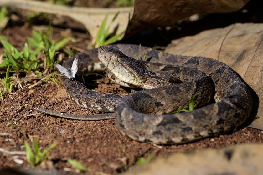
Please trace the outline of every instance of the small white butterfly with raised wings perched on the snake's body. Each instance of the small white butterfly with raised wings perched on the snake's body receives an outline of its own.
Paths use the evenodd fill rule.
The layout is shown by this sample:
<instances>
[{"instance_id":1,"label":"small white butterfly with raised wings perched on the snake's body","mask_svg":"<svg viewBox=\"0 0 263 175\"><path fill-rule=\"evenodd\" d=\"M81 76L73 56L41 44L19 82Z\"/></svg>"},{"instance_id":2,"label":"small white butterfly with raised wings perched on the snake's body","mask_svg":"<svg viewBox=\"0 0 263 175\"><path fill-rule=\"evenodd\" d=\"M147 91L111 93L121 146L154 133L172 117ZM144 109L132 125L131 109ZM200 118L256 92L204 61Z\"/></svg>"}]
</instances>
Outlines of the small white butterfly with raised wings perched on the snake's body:
<instances>
[{"instance_id":1,"label":"small white butterfly with raised wings perched on the snake's body","mask_svg":"<svg viewBox=\"0 0 263 175\"><path fill-rule=\"evenodd\" d=\"M71 68L69 68L69 69L64 68L63 66L61 66L58 63L54 63L54 66L60 71L60 73L62 75L73 80L75 78L77 71L78 71L78 61L79 61L79 57L76 57L72 63Z\"/></svg>"}]
</instances>

